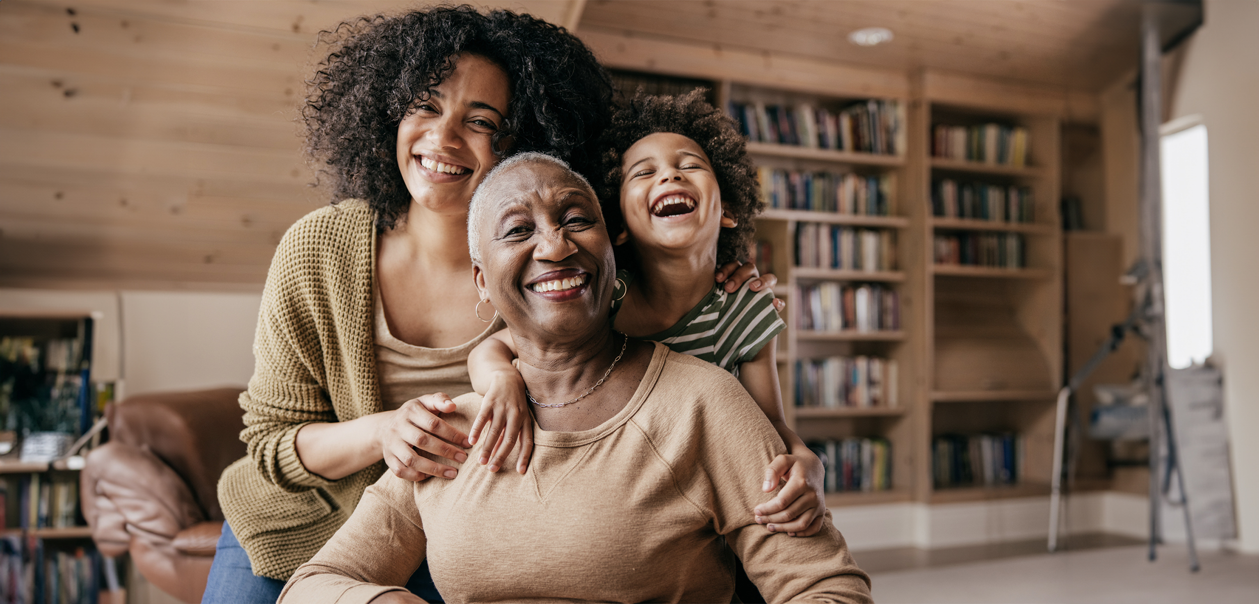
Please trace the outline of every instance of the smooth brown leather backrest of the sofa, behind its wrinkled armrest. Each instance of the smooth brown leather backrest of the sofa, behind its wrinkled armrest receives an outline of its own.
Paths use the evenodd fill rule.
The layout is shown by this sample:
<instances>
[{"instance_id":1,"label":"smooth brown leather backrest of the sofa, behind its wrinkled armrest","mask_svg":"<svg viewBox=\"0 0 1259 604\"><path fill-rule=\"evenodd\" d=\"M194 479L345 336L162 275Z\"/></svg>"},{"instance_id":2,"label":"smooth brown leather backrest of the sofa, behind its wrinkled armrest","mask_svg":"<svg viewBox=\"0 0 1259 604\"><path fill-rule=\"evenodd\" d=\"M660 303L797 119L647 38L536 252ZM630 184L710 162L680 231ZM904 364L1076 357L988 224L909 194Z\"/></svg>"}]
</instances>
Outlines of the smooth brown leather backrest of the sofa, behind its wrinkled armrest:
<instances>
[{"instance_id":1,"label":"smooth brown leather backrest of the sofa, behind its wrinkled armrest","mask_svg":"<svg viewBox=\"0 0 1259 604\"><path fill-rule=\"evenodd\" d=\"M110 439L145 447L191 488L206 520L223 520L218 482L244 457L240 388L130 396L110 405Z\"/></svg>"}]
</instances>

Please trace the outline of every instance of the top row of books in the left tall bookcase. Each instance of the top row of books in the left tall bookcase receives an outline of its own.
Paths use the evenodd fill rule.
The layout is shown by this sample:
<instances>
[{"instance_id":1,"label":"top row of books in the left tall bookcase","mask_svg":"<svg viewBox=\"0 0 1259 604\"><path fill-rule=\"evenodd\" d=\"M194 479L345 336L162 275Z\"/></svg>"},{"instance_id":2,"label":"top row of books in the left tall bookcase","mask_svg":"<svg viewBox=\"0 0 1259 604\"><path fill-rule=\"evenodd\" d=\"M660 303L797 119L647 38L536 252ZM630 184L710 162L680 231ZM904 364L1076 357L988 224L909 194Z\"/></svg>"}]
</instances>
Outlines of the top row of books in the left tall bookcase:
<instances>
[{"instance_id":1,"label":"top row of books in the left tall bookcase","mask_svg":"<svg viewBox=\"0 0 1259 604\"><path fill-rule=\"evenodd\" d=\"M752 142L896 155L905 122L896 101L869 99L832 112L801 103L735 103L730 117Z\"/></svg>"}]
</instances>

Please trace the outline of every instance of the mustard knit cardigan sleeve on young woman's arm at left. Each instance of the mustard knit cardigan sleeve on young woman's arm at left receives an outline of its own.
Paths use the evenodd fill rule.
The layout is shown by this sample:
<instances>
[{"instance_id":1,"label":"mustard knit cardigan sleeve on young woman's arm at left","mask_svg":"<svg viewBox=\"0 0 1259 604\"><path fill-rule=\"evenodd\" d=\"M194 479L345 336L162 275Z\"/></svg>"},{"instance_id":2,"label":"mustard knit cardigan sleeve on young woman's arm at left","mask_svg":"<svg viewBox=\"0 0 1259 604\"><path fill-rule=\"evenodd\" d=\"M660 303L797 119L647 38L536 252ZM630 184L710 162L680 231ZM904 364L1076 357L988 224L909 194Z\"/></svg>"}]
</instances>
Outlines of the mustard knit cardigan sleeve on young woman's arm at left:
<instances>
[{"instance_id":1,"label":"mustard knit cardigan sleeve on young woman's arm at left","mask_svg":"<svg viewBox=\"0 0 1259 604\"><path fill-rule=\"evenodd\" d=\"M329 232L337 228L325 213L295 224L276 250L263 288L254 335L254 372L240 394L246 429L240 439L258 473L286 491L326 487L329 481L306 469L297 456L297 430L316 422L337 422L329 395L329 365L336 362L336 326L329 292L337 276L327 268Z\"/></svg>"}]
</instances>

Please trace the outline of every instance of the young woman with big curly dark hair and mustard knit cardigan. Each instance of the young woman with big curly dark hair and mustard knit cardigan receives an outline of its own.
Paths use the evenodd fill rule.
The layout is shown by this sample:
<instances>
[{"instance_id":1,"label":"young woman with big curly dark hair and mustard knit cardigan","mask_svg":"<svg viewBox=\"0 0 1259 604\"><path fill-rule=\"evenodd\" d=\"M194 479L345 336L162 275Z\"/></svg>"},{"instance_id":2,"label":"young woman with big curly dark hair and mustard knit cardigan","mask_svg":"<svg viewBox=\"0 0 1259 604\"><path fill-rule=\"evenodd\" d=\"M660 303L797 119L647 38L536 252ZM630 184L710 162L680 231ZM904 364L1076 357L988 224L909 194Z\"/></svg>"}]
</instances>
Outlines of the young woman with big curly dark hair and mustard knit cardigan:
<instances>
[{"instance_id":1,"label":"young woman with big curly dark hair and mustard knit cardigan","mask_svg":"<svg viewBox=\"0 0 1259 604\"><path fill-rule=\"evenodd\" d=\"M592 166L611 112L590 50L529 15L433 8L342 23L321 43L302 117L336 201L288 230L267 276L240 395L249 454L219 482L228 521L204 601L274 601L387 467L454 476L418 452L466 459L476 433L438 414L471 390L467 352L501 328L478 308L468 200L511 152ZM511 434L529 419L502 415L494 427ZM409 585L437 598L426 580Z\"/></svg>"}]
</instances>

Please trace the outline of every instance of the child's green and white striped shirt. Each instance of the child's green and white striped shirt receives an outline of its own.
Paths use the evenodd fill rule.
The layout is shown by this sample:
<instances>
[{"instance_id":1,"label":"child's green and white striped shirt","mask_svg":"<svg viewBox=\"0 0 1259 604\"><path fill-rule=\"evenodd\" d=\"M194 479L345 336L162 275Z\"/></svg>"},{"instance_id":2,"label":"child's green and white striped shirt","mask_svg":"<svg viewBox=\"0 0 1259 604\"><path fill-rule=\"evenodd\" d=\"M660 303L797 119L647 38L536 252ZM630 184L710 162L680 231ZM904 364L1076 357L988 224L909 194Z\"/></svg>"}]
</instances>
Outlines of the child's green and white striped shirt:
<instances>
[{"instance_id":1,"label":"child's green and white striped shirt","mask_svg":"<svg viewBox=\"0 0 1259 604\"><path fill-rule=\"evenodd\" d=\"M617 271L617 277L621 281L616 283L612 296L616 298L613 315L621 310L621 298L633 281L627 271ZM755 357L786 328L787 323L774 311L774 297L768 291L753 292L744 283L734 293L726 293L720 283L714 283L713 291L672 327L642 340L663 344L674 352L699 357L738 375L740 364Z\"/></svg>"}]
</instances>

